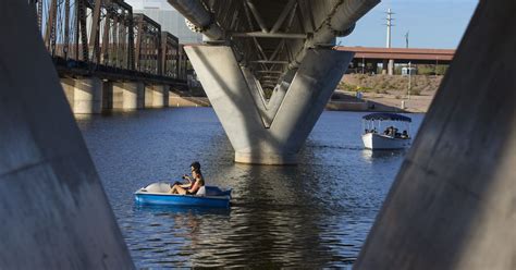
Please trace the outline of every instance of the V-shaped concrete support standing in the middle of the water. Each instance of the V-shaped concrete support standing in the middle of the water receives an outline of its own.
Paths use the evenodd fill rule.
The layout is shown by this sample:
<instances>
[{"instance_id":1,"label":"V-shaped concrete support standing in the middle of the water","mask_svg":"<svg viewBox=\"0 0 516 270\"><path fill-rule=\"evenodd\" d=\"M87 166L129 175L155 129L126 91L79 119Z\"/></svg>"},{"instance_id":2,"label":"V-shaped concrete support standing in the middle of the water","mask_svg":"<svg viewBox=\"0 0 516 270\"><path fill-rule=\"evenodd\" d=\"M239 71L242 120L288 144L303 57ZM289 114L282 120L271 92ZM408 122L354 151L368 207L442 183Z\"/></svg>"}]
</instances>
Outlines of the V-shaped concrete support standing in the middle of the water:
<instances>
[{"instance_id":1,"label":"V-shaped concrete support standing in the middle of the water","mask_svg":"<svg viewBox=\"0 0 516 270\"><path fill-rule=\"evenodd\" d=\"M353 57L310 50L290 86L277 87L284 93L267 103L259 83L238 65L230 47L189 46L185 51L235 150L235 161L260 164L296 162Z\"/></svg>"}]
</instances>

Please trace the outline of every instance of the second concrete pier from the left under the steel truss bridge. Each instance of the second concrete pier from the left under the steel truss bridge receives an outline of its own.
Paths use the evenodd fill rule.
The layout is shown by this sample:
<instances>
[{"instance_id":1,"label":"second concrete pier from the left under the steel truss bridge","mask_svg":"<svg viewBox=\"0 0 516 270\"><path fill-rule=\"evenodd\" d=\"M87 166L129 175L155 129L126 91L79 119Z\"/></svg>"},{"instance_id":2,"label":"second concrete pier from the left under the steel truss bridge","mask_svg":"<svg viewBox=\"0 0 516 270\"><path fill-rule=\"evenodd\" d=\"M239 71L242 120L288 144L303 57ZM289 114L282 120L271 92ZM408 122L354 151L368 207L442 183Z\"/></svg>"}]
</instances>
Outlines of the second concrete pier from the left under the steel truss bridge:
<instances>
[{"instance_id":1,"label":"second concrete pier from the left under the steel truss bridge","mask_svg":"<svg viewBox=\"0 0 516 270\"><path fill-rule=\"evenodd\" d=\"M113 110L143 109L145 85L142 82L113 83Z\"/></svg>"}]
</instances>

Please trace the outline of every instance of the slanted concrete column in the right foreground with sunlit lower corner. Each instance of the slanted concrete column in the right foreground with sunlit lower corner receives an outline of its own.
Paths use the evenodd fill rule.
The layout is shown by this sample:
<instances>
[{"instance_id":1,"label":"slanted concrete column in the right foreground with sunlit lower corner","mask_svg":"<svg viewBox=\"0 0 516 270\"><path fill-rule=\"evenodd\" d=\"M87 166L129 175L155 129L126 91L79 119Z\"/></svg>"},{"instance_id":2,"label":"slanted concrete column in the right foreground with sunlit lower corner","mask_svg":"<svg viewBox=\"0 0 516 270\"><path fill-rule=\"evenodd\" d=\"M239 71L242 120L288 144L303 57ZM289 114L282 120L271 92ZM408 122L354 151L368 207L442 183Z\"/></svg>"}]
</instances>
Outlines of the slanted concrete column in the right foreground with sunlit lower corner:
<instances>
[{"instance_id":1,"label":"slanted concrete column in the right foreground with sunlit lower corner","mask_svg":"<svg viewBox=\"0 0 516 270\"><path fill-rule=\"evenodd\" d=\"M355 269L516 269L515 13L479 2Z\"/></svg>"}]
</instances>

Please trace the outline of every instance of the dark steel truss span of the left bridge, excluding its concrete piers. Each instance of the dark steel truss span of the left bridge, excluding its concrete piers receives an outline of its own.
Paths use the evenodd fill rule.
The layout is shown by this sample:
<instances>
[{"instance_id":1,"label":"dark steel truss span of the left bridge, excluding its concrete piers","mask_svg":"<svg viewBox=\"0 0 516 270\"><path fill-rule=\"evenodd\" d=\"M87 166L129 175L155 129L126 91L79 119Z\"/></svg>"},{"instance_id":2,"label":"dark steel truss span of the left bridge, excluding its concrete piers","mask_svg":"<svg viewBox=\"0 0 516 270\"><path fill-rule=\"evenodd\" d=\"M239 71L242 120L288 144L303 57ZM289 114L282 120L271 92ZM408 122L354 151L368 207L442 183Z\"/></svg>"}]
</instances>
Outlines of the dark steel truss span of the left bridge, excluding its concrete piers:
<instances>
[{"instance_id":1,"label":"dark steel truss span of the left bridge, excluding its concrete piers","mask_svg":"<svg viewBox=\"0 0 516 270\"><path fill-rule=\"evenodd\" d=\"M185 85L179 39L121 0L29 0L60 76Z\"/></svg>"}]
</instances>

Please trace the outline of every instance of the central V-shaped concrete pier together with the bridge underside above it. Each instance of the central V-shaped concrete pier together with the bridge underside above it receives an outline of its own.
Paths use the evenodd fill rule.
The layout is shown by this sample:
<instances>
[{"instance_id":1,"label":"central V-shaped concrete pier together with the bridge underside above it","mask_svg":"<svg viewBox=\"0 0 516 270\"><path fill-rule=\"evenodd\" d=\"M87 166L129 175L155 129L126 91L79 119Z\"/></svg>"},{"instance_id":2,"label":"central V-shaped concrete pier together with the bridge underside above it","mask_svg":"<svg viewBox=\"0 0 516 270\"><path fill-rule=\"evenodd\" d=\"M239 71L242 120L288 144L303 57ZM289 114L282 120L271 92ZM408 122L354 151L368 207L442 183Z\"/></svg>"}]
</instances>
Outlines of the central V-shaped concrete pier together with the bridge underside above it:
<instances>
[{"instance_id":1,"label":"central V-shaped concrete pier together with the bridge underside above it","mask_svg":"<svg viewBox=\"0 0 516 270\"><path fill-rule=\"evenodd\" d=\"M295 163L353 53L333 50L379 0L169 0L210 46L185 48L235 161ZM231 108L231 109L230 109Z\"/></svg>"}]
</instances>

